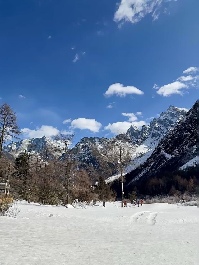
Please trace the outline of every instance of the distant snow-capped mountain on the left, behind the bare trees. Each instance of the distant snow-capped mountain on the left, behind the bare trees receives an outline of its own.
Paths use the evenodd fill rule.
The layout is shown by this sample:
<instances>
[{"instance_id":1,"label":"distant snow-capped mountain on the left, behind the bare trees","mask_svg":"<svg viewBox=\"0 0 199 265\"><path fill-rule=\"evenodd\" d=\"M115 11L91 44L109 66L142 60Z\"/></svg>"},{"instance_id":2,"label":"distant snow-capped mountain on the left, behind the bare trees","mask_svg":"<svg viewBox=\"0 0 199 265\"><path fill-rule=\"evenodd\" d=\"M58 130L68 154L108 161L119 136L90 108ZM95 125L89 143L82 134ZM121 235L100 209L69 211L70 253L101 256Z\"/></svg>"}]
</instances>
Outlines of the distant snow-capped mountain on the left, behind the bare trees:
<instances>
[{"instance_id":1,"label":"distant snow-capped mountain on the left, behind the bare trees","mask_svg":"<svg viewBox=\"0 0 199 265\"><path fill-rule=\"evenodd\" d=\"M63 152L56 152L53 150L54 147L59 146L60 143L55 140L51 140L48 137L43 136L42 138L23 139L19 142L12 142L4 148L4 152L11 158L17 158L21 152L29 151L32 146L32 154L35 156L39 152L39 156L45 157L47 149L47 157L49 159L58 159Z\"/></svg>"}]
</instances>

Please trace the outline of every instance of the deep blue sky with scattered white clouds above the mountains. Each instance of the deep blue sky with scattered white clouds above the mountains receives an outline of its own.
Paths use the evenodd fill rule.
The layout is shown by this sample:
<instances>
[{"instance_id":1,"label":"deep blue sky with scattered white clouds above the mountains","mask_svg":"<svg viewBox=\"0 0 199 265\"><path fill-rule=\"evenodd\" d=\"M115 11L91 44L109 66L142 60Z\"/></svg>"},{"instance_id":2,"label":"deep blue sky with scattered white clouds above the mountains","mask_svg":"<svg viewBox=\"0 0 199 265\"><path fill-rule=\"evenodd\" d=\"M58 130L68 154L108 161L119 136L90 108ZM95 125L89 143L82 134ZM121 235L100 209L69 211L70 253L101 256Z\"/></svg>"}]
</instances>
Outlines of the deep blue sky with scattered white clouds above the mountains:
<instances>
[{"instance_id":1,"label":"deep blue sky with scattered white clouds above the mountains","mask_svg":"<svg viewBox=\"0 0 199 265\"><path fill-rule=\"evenodd\" d=\"M0 10L0 103L24 138L111 137L198 98L198 0L7 0Z\"/></svg>"}]
</instances>

